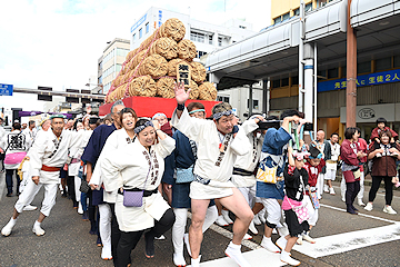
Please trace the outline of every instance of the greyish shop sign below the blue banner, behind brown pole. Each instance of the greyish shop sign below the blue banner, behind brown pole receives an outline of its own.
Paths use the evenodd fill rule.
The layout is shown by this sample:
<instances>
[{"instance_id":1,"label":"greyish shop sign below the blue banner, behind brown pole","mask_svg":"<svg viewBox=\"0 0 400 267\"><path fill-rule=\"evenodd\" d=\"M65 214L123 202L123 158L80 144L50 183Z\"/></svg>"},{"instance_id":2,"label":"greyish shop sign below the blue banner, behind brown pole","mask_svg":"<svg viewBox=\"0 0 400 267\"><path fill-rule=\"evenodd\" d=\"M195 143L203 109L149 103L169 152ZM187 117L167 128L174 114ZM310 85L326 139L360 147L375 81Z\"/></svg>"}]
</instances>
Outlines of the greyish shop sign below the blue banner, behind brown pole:
<instances>
[{"instance_id":1,"label":"greyish shop sign below the blue banner, behind brown pole","mask_svg":"<svg viewBox=\"0 0 400 267\"><path fill-rule=\"evenodd\" d=\"M376 122L378 118L382 117L387 121L396 121L396 105L394 103L381 103L381 105L368 105L357 106L356 122ZM346 123L346 107L340 108L340 122Z\"/></svg>"}]
</instances>

